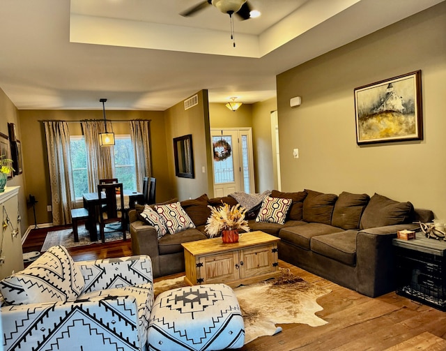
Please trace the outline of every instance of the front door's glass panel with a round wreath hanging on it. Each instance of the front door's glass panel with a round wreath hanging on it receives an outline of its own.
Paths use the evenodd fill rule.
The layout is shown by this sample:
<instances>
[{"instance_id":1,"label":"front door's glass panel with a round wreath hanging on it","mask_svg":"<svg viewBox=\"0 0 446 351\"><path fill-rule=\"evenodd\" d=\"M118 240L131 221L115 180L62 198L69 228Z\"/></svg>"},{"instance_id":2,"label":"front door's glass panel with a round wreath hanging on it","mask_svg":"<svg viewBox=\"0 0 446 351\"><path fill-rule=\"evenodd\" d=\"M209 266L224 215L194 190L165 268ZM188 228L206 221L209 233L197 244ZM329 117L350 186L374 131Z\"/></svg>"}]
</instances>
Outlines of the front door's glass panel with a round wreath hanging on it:
<instances>
[{"instance_id":1,"label":"front door's glass panel with a round wreath hanging on it","mask_svg":"<svg viewBox=\"0 0 446 351\"><path fill-rule=\"evenodd\" d=\"M234 181L231 135L213 136L214 151L214 183L230 183Z\"/></svg>"}]
</instances>

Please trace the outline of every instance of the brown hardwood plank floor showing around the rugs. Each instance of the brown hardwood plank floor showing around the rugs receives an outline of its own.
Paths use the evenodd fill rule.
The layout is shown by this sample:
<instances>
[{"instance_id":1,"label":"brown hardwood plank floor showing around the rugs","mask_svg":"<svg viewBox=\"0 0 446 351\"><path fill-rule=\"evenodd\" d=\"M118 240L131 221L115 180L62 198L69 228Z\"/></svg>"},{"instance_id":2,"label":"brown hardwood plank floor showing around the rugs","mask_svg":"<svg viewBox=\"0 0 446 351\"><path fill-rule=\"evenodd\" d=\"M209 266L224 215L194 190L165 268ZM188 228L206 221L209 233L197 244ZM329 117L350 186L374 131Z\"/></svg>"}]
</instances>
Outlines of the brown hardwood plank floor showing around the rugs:
<instances>
[{"instance_id":1,"label":"brown hardwood plank floor showing around the rugs","mask_svg":"<svg viewBox=\"0 0 446 351\"><path fill-rule=\"evenodd\" d=\"M39 251L46 232L31 231L24 243L24 252ZM76 261L132 254L130 240L68 250ZM328 324L320 327L283 324L282 333L258 338L240 350L446 350L445 312L394 292L372 299L286 262L280 261L279 265L306 281L332 290L318 299L323 310L316 313Z\"/></svg>"}]
</instances>

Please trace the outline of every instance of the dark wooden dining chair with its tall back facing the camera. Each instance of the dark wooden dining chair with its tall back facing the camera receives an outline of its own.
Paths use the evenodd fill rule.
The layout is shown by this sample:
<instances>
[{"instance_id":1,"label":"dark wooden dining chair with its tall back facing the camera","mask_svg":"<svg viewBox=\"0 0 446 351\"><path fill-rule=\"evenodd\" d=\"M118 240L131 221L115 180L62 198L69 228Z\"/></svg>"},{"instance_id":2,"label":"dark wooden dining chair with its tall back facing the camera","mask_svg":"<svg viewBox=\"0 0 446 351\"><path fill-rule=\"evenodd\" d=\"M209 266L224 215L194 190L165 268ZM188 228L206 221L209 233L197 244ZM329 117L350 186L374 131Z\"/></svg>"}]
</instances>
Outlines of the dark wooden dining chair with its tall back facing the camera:
<instances>
[{"instance_id":1,"label":"dark wooden dining chair with its tall back facing the camera","mask_svg":"<svg viewBox=\"0 0 446 351\"><path fill-rule=\"evenodd\" d=\"M121 223L123 239L125 235L126 219L124 208L124 192L122 183L98 184L99 203L105 202L105 207L100 206L99 228L102 242L105 243L105 225L108 223Z\"/></svg>"}]
</instances>

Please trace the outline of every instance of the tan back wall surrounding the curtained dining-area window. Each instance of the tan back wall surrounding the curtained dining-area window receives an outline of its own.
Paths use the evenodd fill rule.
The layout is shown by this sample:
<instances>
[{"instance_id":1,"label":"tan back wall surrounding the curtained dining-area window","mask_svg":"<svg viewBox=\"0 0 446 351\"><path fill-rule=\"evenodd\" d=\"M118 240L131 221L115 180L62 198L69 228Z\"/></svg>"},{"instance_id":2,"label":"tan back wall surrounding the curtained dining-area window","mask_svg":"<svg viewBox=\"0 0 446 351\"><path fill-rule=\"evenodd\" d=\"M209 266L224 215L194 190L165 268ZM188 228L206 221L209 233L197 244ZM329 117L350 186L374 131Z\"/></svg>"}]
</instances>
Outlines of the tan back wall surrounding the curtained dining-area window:
<instances>
[{"instance_id":1,"label":"tan back wall surrounding the curtained dining-area window","mask_svg":"<svg viewBox=\"0 0 446 351\"><path fill-rule=\"evenodd\" d=\"M51 204L49 187L49 172L47 161L47 147L43 120L73 121L80 119L102 119L102 110L20 110L20 133L22 135L22 152L24 170L26 172L26 196L35 195L37 223L51 223L52 216L47 212L47 205ZM107 111L107 120L151 120L151 158L152 175L157 178L157 200L167 199L169 184L168 168L165 160L166 138L164 129L164 112L156 111ZM70 134L82 133L80 124L69 124ZM114 133L130 133L127 123L113 124ZM28 221L34 223L32 208L28 209ZM26 217L26 216L25 216Z\"/></svg>"}]
</instances>

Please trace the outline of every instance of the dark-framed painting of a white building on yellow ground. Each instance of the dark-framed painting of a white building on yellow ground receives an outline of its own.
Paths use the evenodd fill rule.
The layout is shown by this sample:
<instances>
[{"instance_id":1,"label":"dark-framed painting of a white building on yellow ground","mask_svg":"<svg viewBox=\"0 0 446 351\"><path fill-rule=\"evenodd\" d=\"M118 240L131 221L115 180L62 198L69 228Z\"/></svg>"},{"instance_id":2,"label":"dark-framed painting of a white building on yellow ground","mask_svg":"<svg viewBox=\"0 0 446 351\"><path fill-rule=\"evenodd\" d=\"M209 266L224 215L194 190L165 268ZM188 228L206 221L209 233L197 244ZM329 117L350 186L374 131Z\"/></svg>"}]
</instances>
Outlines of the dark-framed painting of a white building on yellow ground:
<instances>
[{"instance_id":1,"label":"dark-framed painting of a white building on yellow ground","mask_svg":"<svg viewBox=\"0 0 446 351\"><path fill-rule=\"evenodd\" d=\"M354 93L357 144L423 139L421 70Z\"/></svg>"}]
</instances>

